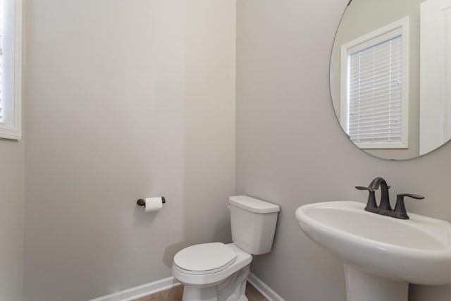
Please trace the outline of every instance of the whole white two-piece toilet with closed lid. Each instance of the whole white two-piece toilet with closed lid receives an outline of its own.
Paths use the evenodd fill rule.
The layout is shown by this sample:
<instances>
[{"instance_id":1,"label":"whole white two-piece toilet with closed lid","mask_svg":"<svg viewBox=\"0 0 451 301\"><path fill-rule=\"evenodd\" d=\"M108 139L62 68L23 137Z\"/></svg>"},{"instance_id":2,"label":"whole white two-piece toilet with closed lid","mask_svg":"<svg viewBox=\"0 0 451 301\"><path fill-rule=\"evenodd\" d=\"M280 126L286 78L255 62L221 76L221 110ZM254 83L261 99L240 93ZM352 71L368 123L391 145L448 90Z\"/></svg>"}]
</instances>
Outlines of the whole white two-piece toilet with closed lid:
<instances>
[{"instance_id":1,"label":"whole white two-piece toilet with closed lid","mask_svg":"<svg viewBox=\"0 0 451 301\"><path fill-rule=\"evenodd\" d=\"M230 197L233 243L192 245L175 254L172 274L183 301L247 301L253 255L271 252L280 207L246 195Z\"/></svg>"}]
</instances>

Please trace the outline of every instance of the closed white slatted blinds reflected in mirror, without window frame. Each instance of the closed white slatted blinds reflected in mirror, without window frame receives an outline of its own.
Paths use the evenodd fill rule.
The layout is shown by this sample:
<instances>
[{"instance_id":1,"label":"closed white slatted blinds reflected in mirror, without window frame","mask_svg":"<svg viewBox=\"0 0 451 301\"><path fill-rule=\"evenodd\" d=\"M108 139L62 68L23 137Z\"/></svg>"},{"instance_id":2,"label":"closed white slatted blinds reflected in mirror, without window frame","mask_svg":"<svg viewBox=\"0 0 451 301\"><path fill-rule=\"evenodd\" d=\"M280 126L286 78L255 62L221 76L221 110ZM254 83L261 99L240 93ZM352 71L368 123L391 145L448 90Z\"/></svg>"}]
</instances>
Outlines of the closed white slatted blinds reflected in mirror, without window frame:
<instances>
[{"instance_id":1,"label":"closed white slatted blinds reflected in mirror, without window frame","mask_svg":"<svg viewBox=\"0 0 451 301\"><path fill-rule=\"evenodd\" d=\"M350 54L350 139L400 142L402 139L402 36Z\"/></svg>"}]
</instances>

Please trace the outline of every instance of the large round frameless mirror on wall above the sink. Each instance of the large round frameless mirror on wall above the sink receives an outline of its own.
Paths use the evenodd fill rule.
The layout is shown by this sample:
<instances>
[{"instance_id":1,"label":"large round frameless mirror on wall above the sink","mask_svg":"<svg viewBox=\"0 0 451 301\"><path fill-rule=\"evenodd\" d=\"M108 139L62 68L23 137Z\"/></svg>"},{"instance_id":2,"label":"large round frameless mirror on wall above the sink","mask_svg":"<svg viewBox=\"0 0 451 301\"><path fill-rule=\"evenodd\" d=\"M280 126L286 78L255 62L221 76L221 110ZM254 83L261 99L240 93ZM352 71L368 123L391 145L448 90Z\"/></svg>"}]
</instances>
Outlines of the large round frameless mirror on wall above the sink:
<instances>
[{"instance_id":1,"label":"large round frameless mirror on wall above the sink","mask_svg":"<svg viewBox=\"0 0 451 301\"><path fill-rule=\"evenodd\" d=\"M410 159L451 137L451 0L352 0L335 35L330 94L360 149Z\"/></svg>"}]
</instances>

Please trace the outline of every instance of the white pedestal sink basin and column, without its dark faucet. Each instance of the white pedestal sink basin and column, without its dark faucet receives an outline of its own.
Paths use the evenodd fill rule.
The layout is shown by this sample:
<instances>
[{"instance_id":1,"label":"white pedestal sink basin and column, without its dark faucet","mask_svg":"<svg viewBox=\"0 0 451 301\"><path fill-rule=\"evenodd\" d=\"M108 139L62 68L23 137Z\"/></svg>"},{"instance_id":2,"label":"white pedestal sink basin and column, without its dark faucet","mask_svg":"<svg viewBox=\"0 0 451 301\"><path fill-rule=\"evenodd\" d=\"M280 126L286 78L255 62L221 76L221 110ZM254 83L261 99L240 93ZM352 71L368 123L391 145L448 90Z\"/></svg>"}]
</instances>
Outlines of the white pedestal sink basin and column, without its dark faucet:
<instances>
[{"instance_id":1,"label":"white pedestal sink basin and column, without its dark faucet","mask_svg":"<svg viewBox=\"0 0 451 301\"><path fill-rule=\"evenodd\" d=\"M408 283L451 283L451 224L418 214L394 219L359 202L320 202L296 210L309 238L340 257L348 301L407 301Z\"/></svg>"}]
</instances>

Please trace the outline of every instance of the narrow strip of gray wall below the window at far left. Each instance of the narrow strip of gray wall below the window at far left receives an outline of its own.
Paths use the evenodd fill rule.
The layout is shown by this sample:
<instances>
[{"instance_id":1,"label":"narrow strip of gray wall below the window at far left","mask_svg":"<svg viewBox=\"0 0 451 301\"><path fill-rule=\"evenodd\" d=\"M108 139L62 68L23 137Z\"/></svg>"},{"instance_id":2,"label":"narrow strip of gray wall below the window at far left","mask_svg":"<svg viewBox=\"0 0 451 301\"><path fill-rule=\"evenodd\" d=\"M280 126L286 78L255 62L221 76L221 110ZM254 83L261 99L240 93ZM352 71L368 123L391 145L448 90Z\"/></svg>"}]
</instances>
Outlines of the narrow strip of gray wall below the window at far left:
<instances>
[{"instance_id":1,"label":"narrow strip of gray wall below the window at far left","mask_svg":"<svg viewBox=\"0 0 451 301\"><path fill-rule=\"evenodd\" d=\"M0 300L21 301L23 142L0 139Z\"/></svg>"}]
</instances>

